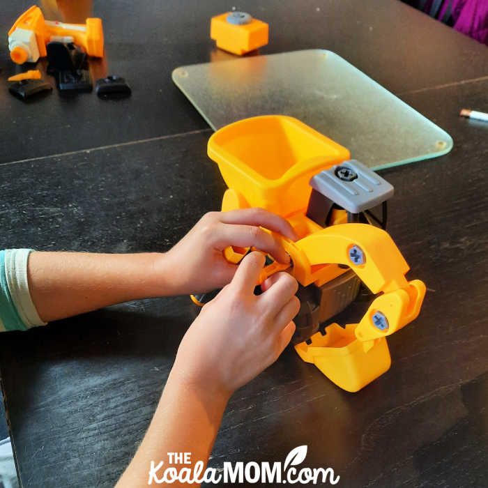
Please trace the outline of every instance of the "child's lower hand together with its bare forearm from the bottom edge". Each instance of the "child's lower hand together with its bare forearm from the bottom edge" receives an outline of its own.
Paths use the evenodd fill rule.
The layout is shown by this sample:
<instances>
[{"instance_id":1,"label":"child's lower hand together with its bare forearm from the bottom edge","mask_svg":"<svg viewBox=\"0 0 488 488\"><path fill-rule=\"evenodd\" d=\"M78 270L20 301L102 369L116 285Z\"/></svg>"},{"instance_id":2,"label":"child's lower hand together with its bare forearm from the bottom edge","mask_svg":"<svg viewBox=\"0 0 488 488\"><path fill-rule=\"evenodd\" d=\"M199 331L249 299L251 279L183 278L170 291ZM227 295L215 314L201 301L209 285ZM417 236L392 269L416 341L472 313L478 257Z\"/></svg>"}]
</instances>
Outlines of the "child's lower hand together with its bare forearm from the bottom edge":
<instances>
[{"instance_id":1,"label":"child's lower hand together with its bare forearm from the bottom edge","mask_svg":"<svg viewBox=\"0 0 488 488\"><path fill-rule=\"evenodd\" d=\"M291 340L298 284L277 273L254 295L264 262L260 252L248 254L187 330L158 409L118 488L146 486L151 460L168 466L169 452L191 452L188 468L204 468L232 393L273 363Z\"/></svg>"}]
</instances>

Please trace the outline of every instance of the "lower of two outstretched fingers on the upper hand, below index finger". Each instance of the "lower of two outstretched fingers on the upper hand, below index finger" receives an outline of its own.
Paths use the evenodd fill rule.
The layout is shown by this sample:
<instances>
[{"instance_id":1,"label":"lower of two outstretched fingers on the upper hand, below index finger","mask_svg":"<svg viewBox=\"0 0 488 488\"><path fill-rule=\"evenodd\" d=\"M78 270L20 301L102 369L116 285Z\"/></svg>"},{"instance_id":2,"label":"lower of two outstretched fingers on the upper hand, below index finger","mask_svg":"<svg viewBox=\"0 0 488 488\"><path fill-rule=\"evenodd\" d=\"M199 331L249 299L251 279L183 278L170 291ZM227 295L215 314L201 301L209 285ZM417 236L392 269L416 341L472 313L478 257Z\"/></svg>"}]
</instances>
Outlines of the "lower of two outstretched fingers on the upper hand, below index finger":
<instances>
[{"instance_id":1,"label":"lower of two outstretched fingers on the upper hand, below index finger","mask_svg":"<svg viewBox=\"0 0 488 488\"><path fill-rule=\"evenodd\" d=\"M269 232L254 225L219 224L211 238L212 244L223 250L228 245L238 247L257 247L271 254L280 263L289 263L290 257L282 244Z\"/></svg>"}]
</instances>

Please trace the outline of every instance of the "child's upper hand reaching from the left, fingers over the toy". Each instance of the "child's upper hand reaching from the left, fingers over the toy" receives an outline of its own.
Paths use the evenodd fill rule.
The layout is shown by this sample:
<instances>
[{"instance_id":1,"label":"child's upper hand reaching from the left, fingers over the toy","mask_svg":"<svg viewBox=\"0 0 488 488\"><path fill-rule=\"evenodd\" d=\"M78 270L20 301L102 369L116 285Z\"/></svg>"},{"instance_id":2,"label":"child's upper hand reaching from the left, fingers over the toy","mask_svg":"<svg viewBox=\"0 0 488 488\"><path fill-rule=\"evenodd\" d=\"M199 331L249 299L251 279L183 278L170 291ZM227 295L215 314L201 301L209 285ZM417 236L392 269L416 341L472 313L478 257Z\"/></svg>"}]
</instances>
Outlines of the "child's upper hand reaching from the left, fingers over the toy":
<instances>
[{"instance_id":1,"label":"child's upper hand reaching from the left, fingers over the toy","mask_svg":"<svg viewBox=\"0 0 488 488\"><path fill-rule=\"evenodd\" d=\"M172 294L203 293L229 283L237 269L224 258L223 250L229 245L254 246L288 263L282 245L259 226L293 241L297 238L286 220L263 208L206 213L162 259L161 269L171 274Z\"/></svg>"}]
</instances>

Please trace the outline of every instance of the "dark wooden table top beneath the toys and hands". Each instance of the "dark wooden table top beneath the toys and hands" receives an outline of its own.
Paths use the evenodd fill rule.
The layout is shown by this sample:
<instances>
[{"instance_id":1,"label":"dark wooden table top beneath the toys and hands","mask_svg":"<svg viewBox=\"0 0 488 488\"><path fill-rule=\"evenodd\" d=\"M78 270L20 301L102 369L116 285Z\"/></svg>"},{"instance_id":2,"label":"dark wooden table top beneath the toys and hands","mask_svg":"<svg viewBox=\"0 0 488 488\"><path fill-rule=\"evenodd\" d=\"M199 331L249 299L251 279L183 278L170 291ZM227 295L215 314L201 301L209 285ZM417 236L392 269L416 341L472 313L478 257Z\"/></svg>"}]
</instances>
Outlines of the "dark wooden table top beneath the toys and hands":
<instances>
[{"instance_id":1,"label":"dark wooden table top beneath the toys and hands","mask_svg":"<svg viewBox=\"0 0 488 488\"><path fill-rule=\"evenodd\" d=\"M215 54L224 1L96 1L107 56L132 97L56 91L24 104L6 31L29 1L2 7L0 248L164 251L218 209L224 183L211 135L171 82ZM262 53L330 49L452 135L443 158L383 171L395 185L389 231L429 289L418 320L388 340L390 371L356 394L291 349L238 390L210 466L284 461L331 466L342 487L484 487L488 475L488 50L394 0L245 1L270 24ZM319 10L317 10L319 9ZM355 321L358 303L340 320ZM110 487L155 409L194 317L188 297L141 300L3 334L0 368L23 487ZM182 425L181 429L185 429Z\"/></svg>"}]
</instances>

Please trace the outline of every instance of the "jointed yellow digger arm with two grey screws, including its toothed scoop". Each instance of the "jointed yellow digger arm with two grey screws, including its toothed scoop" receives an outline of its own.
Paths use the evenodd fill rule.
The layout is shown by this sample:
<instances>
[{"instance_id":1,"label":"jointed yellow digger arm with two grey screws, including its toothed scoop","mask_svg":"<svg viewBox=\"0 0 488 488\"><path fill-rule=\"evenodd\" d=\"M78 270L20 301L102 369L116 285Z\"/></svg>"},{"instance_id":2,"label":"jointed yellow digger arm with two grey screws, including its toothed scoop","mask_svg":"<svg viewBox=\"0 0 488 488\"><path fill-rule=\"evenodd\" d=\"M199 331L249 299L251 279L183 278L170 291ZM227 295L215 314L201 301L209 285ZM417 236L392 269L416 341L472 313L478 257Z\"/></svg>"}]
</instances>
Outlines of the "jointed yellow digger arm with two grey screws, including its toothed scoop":
<instances>
[{"instance_id":1,"label":"jointed yellow digger arm with two grey screws, including its toothed scoop","mask_svg":"<svg viewBox=\"0 0 488 488\"><path fill-rule=\"evenodd\" d=\"M391 359L386 335L417 317L425 296L420 280L407 282L409 270L392 238L367 224L337 224L293 243L293 273L310 275L312 266L345 264L373 293L381 293L360 323L337 323L295 346L300 357L314 363L335 384L358 391L386 372ZM292 256L293 257L293 256Z\"/></svg>"}]
</instances>

